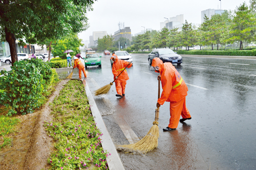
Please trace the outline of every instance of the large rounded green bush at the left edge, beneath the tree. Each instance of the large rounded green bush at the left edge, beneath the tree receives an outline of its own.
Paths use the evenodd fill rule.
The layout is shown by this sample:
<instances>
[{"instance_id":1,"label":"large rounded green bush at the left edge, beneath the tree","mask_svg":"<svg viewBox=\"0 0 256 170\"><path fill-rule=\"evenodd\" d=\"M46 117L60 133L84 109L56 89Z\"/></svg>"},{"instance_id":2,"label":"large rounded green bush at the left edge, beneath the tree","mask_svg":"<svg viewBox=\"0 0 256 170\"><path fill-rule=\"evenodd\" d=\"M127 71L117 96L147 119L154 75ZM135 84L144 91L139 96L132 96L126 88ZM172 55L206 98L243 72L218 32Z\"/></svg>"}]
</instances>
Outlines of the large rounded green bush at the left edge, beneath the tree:
<instances>
[{"instance_id":1,"label":"large rounded green bush at the left edge, beneath the tree","mask_svg":"<svg viewBox=\"0 0 256 170\"><path fill-rule=\"evenodd\" d=\"M38 59L16 61L1 75L0 104L10 108L8 115L32 113L45 103L51 85L58 81L49 63Z\"/></svg>"}]
</instances>

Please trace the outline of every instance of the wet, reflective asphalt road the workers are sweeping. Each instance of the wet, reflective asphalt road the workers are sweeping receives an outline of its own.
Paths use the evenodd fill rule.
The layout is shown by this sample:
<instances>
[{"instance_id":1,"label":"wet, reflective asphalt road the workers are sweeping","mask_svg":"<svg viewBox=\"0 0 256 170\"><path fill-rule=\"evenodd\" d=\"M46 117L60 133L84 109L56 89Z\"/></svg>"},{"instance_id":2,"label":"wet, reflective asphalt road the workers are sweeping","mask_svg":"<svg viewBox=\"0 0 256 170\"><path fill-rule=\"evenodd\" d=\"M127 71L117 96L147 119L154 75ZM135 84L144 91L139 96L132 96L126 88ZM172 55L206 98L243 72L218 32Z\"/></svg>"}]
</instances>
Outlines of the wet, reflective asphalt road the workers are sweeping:
<instances>
[{"instance_id":1,"label":"wet, reflective asphalt road the workers are sweeping","mask_svg":"<svg viewBox=\"0 0 256 170\"><path fill-rule=\"evenodd\" d=\"M100 56L102 68L86 71L92 92L113 81L110 56ZM147 55L132 56L125 97L115 96L115 85L109 94L94 97L115 144L129 144L120 126L143 137L155 117L159 74L150 70ZM192 119L163 132L169 123L166 102L160 107L158 148L145 156L119 152L125 169L256 169L256 60L183 57L174 66L188 86ZM60 78L71 71L57 69Z\"/></svg>"}]
</instances>

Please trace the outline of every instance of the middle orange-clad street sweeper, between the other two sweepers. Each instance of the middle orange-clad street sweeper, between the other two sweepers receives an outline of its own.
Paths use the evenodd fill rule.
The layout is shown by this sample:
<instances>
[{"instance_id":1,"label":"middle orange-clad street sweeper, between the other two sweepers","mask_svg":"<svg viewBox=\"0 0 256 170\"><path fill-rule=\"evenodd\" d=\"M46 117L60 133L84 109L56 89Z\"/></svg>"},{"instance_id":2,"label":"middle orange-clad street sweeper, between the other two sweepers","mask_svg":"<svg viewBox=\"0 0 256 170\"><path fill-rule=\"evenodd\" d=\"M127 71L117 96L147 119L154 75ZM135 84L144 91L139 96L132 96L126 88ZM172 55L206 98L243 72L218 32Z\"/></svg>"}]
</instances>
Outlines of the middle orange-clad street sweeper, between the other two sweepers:
<instances>
[{"instance_id":1,"label":"middle orange-clad street sweeper, between the other two sweepers","mask_svg":"<svg viewBox=\"0 0 256 170\"><path fill-rule=\"evenodd\" d=\"M129 80L129 76L127 74L127 71L124 70L125 67L130 68L133 64L131 62L127 62L124 60L119 60L116 54L112 54L111 60L114 61L112 65L112 72L114 75L114 80L116 84L116 96L117 97L122 97L125 95L125 85L126 85L126 80ZM122 72L122 70L124 70ZM122 72L122 74L120 74ZM119 75L120 74L120 75ZM119 76L118 76L119 75Z\"/></svg>"}]
</instances>

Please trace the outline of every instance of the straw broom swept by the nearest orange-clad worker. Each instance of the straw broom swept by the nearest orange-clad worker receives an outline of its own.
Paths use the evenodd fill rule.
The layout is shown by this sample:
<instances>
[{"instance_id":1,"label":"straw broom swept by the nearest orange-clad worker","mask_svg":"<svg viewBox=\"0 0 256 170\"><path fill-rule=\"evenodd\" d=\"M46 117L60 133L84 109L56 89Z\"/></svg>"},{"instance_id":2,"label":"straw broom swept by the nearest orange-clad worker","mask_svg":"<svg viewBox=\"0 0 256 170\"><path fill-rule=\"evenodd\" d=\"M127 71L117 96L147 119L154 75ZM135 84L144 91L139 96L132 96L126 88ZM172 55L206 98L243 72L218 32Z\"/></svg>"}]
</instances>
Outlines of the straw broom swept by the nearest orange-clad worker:
<instances>
[{"instance_id":1,"label":"straw broom swept by the nearest orange-clad worker","mask_svg":"<svg viewBox=\"0 0 256 170\"><path fill-rule=\"evenodd\" d=\"M158 99L160 98L160 78L158 78ZM155 121L153 122L153 126L151 127L150 131L147 132L146 136L143 137L136 143L133 144L126 144L126 145L118 145L118 149L131 149L134 151L139 151L142 153L147 153L155 148L158 145L158 137L159 137L159 128L158 128L158 120L159 120L159 107L156 109L155 113ZM130 150L128 152L131 152Z\"/></svg>"}]
</instances>

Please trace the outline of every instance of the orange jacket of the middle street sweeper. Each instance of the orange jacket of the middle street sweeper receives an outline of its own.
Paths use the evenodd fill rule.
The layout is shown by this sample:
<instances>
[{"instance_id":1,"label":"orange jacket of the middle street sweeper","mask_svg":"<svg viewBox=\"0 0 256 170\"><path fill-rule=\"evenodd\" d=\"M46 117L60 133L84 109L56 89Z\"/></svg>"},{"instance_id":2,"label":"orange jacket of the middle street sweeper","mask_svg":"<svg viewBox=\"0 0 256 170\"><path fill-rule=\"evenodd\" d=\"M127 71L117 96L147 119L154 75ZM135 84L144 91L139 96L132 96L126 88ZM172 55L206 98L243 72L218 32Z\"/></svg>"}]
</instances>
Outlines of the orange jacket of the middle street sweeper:
<instances>
[{"instance_id":1,"label":"orange jacket of the middle street sweeper","mask_svg":"<svg viewBox=\"0 0 256 170\"><path fill-rule=\"evenodd\" d=\"M122 70L129 64L129 62L127 61L123 61L123 60L119 60L118 58L116 58L116 61L113 63L112 65L112 72L114 75L114 80L116 78L116 76L118 76ZM132 64L130 64L129 66L127 66L127 68L130 68L132 66ZM118 77L118 79L122 82L122 81L126 81L129 80L129 76L127 74L127 71L124 70L122 72L122 74Z\"/></svg>"}]
</instances>

